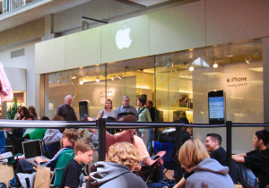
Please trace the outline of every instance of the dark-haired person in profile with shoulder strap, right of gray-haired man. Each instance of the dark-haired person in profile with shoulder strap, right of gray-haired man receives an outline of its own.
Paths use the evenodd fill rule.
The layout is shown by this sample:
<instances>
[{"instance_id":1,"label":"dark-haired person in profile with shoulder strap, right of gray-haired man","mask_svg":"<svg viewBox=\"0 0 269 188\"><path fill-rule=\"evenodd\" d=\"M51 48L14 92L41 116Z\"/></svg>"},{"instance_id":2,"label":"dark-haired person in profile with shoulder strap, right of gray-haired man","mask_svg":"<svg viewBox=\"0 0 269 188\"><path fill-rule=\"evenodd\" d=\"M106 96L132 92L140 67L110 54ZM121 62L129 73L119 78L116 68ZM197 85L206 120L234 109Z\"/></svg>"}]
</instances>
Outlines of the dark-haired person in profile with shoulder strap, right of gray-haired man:
<instances>
[{"instance_id":1,"label":"dark-haired person in profile with shoulder strap, right of gray-haired man","mask_svg":"<svg viewBox=\"0 0 269 188\"><path fill-rule=\"evenodd\" d=\"M152 117L150 111L145 105L145 98L138 98L137 99L137 108L136 111L138 113L138 122L152 122ZM148 137L149 137L149 129L136 129L135 134L142 138L144 144L148 146Z\"/></svg>"}]
</instances>

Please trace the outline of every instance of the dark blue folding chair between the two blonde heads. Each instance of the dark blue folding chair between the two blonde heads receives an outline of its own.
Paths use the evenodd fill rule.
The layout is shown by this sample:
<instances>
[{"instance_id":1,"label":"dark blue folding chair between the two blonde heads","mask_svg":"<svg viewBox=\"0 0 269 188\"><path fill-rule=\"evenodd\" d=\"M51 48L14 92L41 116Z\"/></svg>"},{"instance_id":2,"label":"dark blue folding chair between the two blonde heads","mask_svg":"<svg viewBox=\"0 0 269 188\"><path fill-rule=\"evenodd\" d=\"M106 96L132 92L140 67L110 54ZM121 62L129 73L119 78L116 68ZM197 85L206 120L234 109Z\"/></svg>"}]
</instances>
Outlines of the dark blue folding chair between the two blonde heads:
<instances>
[{"instance_id":1,"label":"dark blue folding chair between the two blonde heads","mask_svg":"<svg viewBox=\"0 0 269 188\"><path fill-rule=\"evenodd\" d=\"M163 172L163 176L165 179L169 179L165 174L169 170L176 170L177 162L174 158L175 149L173 146L173 141L160 143L159 141L152 141L152 147L155 153L165 150L166 154L163 156L163 167L165 171Z\"/></svg>"}]
</instances>

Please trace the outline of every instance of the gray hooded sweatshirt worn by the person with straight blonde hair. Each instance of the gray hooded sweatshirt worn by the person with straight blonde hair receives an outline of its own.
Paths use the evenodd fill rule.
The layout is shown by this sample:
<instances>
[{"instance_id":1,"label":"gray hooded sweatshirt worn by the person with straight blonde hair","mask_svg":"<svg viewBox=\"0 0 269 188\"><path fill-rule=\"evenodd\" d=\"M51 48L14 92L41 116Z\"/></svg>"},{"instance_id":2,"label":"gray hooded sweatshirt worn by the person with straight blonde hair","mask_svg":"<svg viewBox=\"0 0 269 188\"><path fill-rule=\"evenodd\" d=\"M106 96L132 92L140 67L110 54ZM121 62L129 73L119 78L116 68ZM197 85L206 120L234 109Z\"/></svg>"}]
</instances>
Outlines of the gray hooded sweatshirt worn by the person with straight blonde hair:
<instances>
[{"instance_id":1,"label":"gray hooded sweatshirt worn by the person with straight blonde hair","mask_svg":"<svg viewBox=\"0 0 269 188\"><path fill-rule=\"evenodd\" d=\"M194 168L195 174L187 178L187 188L234 188L228 175L229 167L223 167L213 158L205 158Z\"/></svg>"}]
</instances>

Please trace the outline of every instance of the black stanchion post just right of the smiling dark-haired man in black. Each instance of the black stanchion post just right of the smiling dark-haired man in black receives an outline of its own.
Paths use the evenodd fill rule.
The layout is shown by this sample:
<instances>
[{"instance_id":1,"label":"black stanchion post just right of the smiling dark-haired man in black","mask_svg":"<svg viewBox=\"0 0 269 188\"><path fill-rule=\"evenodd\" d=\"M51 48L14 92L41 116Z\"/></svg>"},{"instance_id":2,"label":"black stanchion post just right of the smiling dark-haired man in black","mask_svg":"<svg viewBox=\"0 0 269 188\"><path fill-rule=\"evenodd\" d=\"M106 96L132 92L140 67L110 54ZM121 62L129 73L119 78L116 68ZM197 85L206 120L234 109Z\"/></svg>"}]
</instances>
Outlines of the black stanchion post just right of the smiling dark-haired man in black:
<instances>
[{"instance_id":1,"label":"black stanchion post just right of the smiling dark-haired man in black","mask_svg":"<svg viewBox=\"0 0 269 188\"><path fill-rule=\"evenodd\" d=\"M227 147L227 166L230 168L229 175L231 176L231 121L226 121L226 147Z\"/></svg>"}]
</instances>

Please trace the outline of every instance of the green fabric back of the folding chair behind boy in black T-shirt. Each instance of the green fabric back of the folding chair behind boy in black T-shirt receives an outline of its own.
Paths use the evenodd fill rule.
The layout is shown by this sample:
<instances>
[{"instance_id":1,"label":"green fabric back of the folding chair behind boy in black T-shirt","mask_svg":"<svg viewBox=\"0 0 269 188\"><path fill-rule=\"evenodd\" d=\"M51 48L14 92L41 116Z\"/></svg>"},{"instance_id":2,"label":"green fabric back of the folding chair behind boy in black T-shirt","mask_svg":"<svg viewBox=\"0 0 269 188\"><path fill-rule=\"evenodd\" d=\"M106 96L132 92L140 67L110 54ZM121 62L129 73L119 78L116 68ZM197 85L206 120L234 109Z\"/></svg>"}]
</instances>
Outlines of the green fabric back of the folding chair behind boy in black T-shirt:
<instances>
[{"instance_id":1,"label":"green fabric back of the folding chair behind boy in black T-shirt","mask_svg":"<svg viewBox=\"0 0 269 188\"><path fill-rule=\"evenodd\" d=\"M62 176L64 174L67 163L74 158L74 150L64 150L56 162L54 168L54 174L52 175L50 185L52 187L58 187L61 184Z\"/></svg>"}]
</instances>

